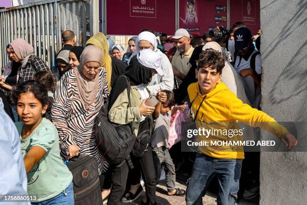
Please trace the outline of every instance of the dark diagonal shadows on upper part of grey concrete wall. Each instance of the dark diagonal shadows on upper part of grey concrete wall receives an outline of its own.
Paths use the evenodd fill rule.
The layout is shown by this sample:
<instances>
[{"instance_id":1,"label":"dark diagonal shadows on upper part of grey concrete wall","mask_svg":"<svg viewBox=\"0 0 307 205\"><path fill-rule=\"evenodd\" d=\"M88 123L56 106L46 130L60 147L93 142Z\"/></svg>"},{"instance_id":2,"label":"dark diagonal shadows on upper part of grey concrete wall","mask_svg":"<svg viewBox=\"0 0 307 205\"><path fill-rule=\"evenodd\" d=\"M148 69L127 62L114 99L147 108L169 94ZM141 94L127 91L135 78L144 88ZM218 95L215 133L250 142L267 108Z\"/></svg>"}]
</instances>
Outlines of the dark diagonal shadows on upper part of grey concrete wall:
<instances>
[{"instance_id":1,"label":"dark diagonal shadows on upper part of grey concrete wall","mask_svg":"<svg viewBox=\"0 0 307 205\"><path fill-rule=\"evenodd\" d=\"M264 6L261 8L263 11L265 8L269 7L272 4L277 4L277 0L273 1L269 5ZM298 12L286 23L284 24L284 27L281 29L280 33L276 36L276 38L267 46L267 50L262 52L262 60L265 60L268 58L271 53L276 52L276 48L279 44L282 44L286 38L288 38L292 32L295 32L295 30L303 26L305 28L305 23L307 22L306 17L306 10L307 10L307 2L305 0L300 0L297 5L297 8L299 8ZM304 18L304 19L302 19ZM302 19L302 20L300 20ZM302 38L305 39L304 43L302 45L297 45L297 51L296 53L289 53L290 56L293 56L291 60L288 62L287 65L283 66L280 69L280 75L275 80L275 84L272 87L272 90L270 92L270 100L273 105L277 105L282 101L286 101L294 96L302 95L301 100L307 99L307 35L306 29L300 29L303 31L301 34ZM289 44L290 41L287 40L285 43ZM295 43L295 39L293 40L293 43ZM295 49L296 50L296 49ZM286 53L286 52L285 52ZM301 69L301 70L299 70ZM284 85L286 84L286 85ZM286 90L285 90L286 87ZM306 116L307 109L305 108L305 102L300 101L297 102L296 105L302 105L300 110L300 116ZM295 105L293 105L295 106ZM299 120L299 119L296 119Z\"/></svg>"}]
</instances>

